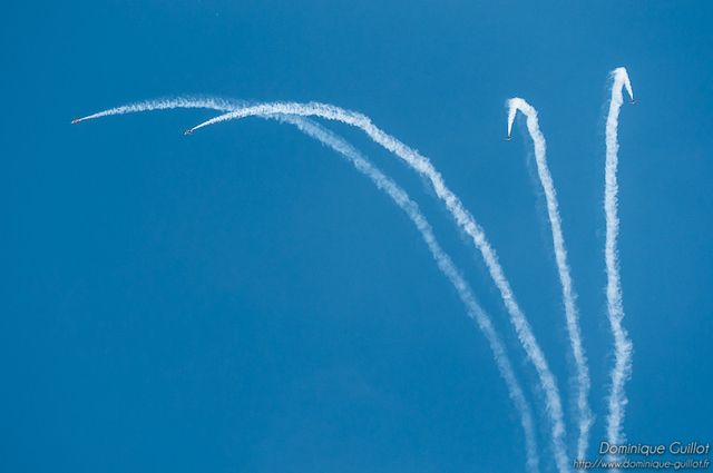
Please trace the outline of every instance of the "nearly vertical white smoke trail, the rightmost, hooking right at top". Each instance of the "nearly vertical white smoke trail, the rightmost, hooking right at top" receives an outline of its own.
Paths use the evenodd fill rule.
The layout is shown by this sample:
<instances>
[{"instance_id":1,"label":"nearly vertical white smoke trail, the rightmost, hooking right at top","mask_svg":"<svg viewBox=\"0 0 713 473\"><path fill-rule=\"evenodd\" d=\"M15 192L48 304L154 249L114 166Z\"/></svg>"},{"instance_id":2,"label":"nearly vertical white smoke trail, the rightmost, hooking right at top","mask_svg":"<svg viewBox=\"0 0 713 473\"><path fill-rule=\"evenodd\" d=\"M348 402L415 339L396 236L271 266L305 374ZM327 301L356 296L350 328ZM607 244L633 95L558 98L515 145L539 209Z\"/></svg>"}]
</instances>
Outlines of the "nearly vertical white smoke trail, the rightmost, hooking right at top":
<instances>
[{"instance_id":1,"label":"nearly vertical white smoke trail, the rightmost, hooking right at top","mask_svg":"<svg viewBox=\"0 0 713 473\"><path fill-rule=\"evenodd\" d=\"M628 400L624 392L624 384L632 373L632 341L622 325L624 306L622 303L622 283L619 278L619 263L616 239L619 233L619 218L617 215L616 168L618 164L617 130L619 110L624 101L622 89L626 87L632 101L634 91L628 80L625 68L616 68L612 71L614 83L612 85L612 101L609 115L606 118L606 164L604 186L604 214L606 217L606 242L604 258L606 262L606 299L609 324L614 334L614 367L612 368L612 388L609 392L607 415L607 440L613 444L624 441L622 423L624 410Z\"/></svg>"}]
</instances>

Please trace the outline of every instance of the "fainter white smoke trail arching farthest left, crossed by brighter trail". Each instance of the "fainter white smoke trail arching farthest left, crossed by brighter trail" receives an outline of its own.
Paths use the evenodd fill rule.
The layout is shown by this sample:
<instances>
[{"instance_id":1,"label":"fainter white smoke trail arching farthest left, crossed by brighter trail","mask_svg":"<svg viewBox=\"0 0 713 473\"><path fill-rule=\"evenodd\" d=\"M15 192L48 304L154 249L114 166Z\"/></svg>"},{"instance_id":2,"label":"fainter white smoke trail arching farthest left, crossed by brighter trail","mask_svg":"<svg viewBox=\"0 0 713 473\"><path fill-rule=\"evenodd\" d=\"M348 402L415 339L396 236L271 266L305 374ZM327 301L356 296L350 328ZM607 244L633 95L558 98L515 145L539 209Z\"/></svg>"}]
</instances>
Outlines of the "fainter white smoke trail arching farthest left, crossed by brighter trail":
<instances>
[{"instance_id":1,"label":"fainter white smoke trail arching farthest left, crossed by brighter trail","mask_svg":"<svg viewBox=\"0 0 713 473\"><path fill-rule=\"evenodd\" d=\"M90 120L94 118L106 117L110 115L123 115L138 111L149 111L159 109L172 108L209 108L218 111L233 110L240 107L238 102L215 99L215 98L178 98L178 99L165 99L156 101L137 102L129 106L117 107L100 111L98 114L84 117L79 120ZM409 195L397 185L393 180L387 177L380 169L373 166L363 155L361 155L351 145L344 141L339 136L324 129L323 127L314 124L310 120L284 115L272 115L270 118L277 119L297 127L301 131L310 137L318 139L322 144L329 146L338 154L348 159L360 173L368 176L372 183L381 190L383 190L391 199L408 215L413 225L421 234L421 237L426 242L433 259L436 260L439 269L448 278L448 280L456 288L458 296L466 306L468 315L477 323L480 331L484 333L490 349L492 352L496 365L500 375L505 380L508 388L508 394L515 404L516 410L520 416L520 424L522 426L526 446L526 463L528 471L533 473L538 472L539 457L537 453L537 441L535 436L535 428L533 422L533 414L529 403L527 402L525 394L520 387L519 382L512 369L509 357L507 356L505 346L498 336L495 326L490 317L485 313L476 300L470 286L460 275L460 272L456 268L452 259L441 248L440 244L433 235L433 230L421 213L418 204L413 201Z\"/></svg>"}]
</instances>

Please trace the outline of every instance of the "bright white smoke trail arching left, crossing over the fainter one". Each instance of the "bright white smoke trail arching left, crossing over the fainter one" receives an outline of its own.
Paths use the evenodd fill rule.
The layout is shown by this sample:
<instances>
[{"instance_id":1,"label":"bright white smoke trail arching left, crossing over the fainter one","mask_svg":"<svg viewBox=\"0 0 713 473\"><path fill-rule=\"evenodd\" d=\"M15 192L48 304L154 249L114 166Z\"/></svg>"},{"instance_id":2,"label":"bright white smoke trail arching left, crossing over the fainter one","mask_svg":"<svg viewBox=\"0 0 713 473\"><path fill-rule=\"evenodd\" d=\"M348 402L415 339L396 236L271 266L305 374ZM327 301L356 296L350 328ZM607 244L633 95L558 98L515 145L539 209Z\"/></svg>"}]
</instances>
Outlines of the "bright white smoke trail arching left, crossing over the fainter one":
<instances>
[{"instance_id":1,"label":"bright white smoke trail arching left, crossing over the fainter one","mask_svg":"<svg viewBox=\"0 0 713 473\"><path fill-rule=\"evenodd\" d=\"M498 257L495 249L488 243L484 230L480 228L476 219L463 207L460 199L446 186L441 175L433 168L430 160L418 151L409 148L397 138L385 134L380 128L371 122L369 117L342 108L319 104L299 104L299 102L270 102L260 104L250 107L242 107L233 110L228 114L215 117L211 120L204 121L193 128L186 130L186 134L191 134L199 128L208 125L226 121L231 119L245 118L250 116L262 115L294 115L294 116L316 116L328 120L341 121L346 125L351 125L360 128L364 131L374 142L381 145L383 148L397 155L404 160L411 168L419 174L426 176L433 187L433 190L438 197L446 204L446 207L451 213L457 224L471 237L476 247L480 250L486 266L492 277L496 286L500 292L500 296L507 307L510 315L510 322L512 323L515 331L518 335L527 356L534 364L540 385L545 392L546 397L546 411L550 417L551 423L551 442L553 451L555 453L555 461L560 472L569 471L569 461L567 460L567 453L565 450L565 423L561 408L561 400L559 397L559 390L557 382L549 369L545 355L533 334L529 322L525 317L525 314L520 309L510 283L505 277L502 267L498 263Z\"/></svg>"}]
</instances>

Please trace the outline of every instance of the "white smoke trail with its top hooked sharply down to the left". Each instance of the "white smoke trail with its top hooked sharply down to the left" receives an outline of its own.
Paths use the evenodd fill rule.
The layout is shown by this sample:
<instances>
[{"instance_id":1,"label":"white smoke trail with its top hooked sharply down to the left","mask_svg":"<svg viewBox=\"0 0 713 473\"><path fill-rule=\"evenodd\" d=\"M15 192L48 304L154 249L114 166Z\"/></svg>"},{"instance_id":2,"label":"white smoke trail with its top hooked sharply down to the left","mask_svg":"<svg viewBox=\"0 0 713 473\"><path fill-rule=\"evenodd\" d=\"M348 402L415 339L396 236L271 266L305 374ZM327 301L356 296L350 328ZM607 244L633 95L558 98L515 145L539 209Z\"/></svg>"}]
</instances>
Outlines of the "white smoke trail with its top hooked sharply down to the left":
<instances>
[{"instance_id":1,"label":"white smoke trail with its top hooked sharply down to the left","mask_svg":"<svg viewBox=\"0 0 713 473\"><path fill-rule=\"evenodd\" d=\"M586 457L587 443L589 441L589 428L592 427L593 417L589 410L587 397L589 395L589 369L587 367L587 357L584 346L582 345L582 333L579 329L579 315L575 304L576 294L573 287L569 265L567 264L567 249L565 248L565 237L561 231L561 218L559 216L559 205L557 203L557 191L555 183L549 173L546 158L545 136L539 129L537 120L537 110L521 98L512 98L508 100L508 138L512 130L515 116L519 110L527 117L527 130L533 138L535 145L535 160L537 161L537 174L545 190L545 199L547 200L547 214L549 216L549 226L553 234L553 246L555 248L555 259L557 262L557 270L559 273L559 283L561 285L561 295L565 303L565 317L567 319L567 332L569 334L569 343L575 359L577 371L577 410L579 413L579 438L577 440L577 459Z\"/></svg>"}]
</instances>

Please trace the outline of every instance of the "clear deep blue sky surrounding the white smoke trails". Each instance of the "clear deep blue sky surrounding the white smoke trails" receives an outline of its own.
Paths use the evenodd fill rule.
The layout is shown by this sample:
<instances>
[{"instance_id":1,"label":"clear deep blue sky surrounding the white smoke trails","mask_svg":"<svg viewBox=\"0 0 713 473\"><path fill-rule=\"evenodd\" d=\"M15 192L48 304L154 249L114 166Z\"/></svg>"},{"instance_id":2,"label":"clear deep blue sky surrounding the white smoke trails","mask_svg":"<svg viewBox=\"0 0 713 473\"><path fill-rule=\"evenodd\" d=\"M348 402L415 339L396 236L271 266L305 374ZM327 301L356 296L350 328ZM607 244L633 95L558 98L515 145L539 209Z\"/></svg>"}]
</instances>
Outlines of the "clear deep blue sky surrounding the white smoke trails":
<instances>
[{"instance_id":1,"label":"clear deep blue sky surrounding the white smoke trails","mask_svg":"<svg viewBox=\"0 0 713 473\"><path fill-rule=\"evenodd\" d=\"M134 100L319 100L429 156L485 227L569 407L531 144L539 111L604 434L608 71L634 343L627 436L710 441L713 7L682 2L10 2L0 16L0 471L520 471L487 344L408 218L331 150L205 110L69 125ZM433 193L329 124L422 206L541 393L495 287ZM568 411L568 431L574 431ZM574 446L574 436L569 447Z\"/></svg>"}]
</instances>

